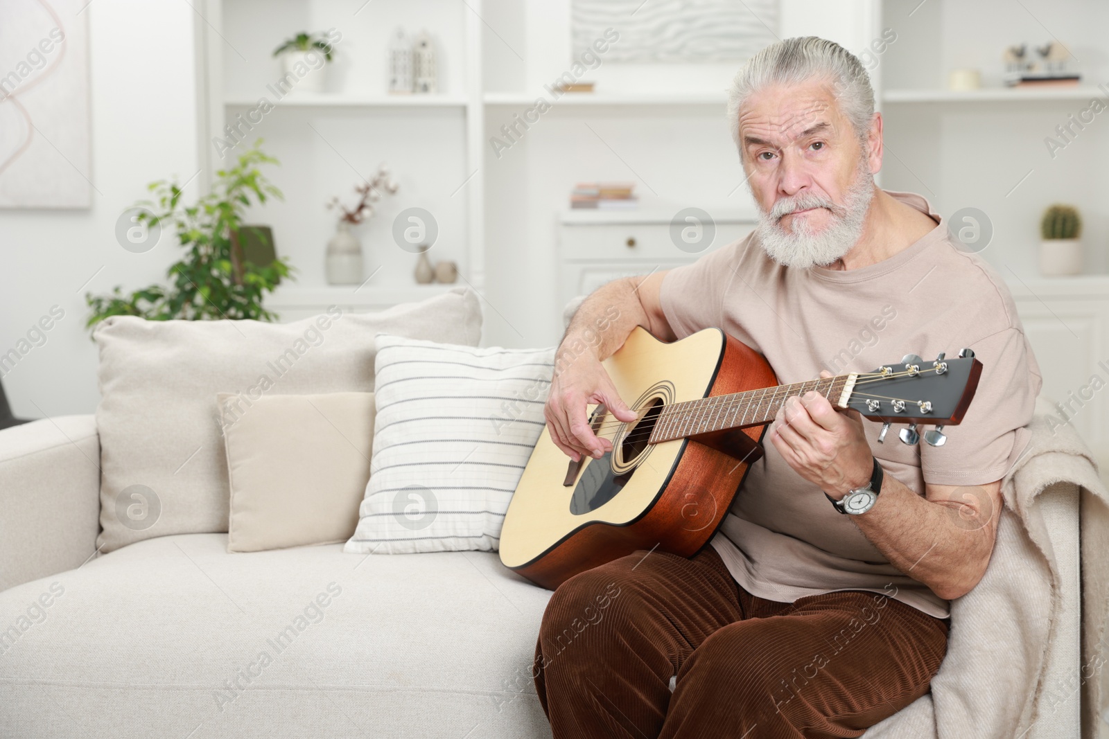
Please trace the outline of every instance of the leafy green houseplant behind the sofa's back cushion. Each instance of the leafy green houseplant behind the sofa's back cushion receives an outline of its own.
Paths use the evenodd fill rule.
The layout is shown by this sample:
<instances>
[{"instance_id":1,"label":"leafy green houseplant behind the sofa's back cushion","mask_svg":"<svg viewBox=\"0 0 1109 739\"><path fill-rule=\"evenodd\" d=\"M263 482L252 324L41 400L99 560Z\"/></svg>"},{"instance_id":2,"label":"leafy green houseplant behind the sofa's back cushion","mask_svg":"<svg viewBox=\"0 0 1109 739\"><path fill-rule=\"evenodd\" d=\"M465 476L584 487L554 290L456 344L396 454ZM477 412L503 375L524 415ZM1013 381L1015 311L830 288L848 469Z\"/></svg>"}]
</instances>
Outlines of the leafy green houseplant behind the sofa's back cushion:
<instances>
[{"instance_id":1,"label":"leafy green houseplant behind the sofa's back cushion","mask_svg":"<svg viewBox=\"0 0 1109 739\"><path fill-rule=\"evenodd\" d=\"M277 318L262 305L263 295L272 291L292 267L281 258L257 265L244 258L240 244L243 216L252 201L265 204L271 196L282 197L281 191L257 170L258 164L276 164L258 146L238 157L230 170L216 172L212 189L195 205L181 202L177 182L160 181L149 189L156 201L145 201L150 209L136 219L149 228L172 226L184 258L166 270L169 286L151 285L130 295L116 286L110 295L85 294L92 309L85 326L91 328L109 316L140 316L147 320L216 320L220 318L253 318L272 321Z\"/></svg>"}]
</instances>

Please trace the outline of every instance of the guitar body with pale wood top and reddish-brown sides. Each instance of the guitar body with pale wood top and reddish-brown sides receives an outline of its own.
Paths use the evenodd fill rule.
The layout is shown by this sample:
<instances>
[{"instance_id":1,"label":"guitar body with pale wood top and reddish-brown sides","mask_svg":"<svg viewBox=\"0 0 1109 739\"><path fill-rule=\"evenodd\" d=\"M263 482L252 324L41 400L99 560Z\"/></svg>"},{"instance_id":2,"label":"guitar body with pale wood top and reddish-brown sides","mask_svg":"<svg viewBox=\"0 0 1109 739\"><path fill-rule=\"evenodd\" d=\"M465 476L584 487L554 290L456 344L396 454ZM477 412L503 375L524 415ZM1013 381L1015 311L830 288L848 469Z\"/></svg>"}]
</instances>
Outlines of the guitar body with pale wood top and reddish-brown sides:
<instances>
[{"instance_id":1,"label":"guitar body with pale wood top and reddish-brown sides","mask_svg":"<svg viewBox=\"0 0 1109 739\"><path fill-rule=\"evenodd\" d=\"M637 327L602 363L632 409L650 407L652 399L669 404L777 384L759 353L719 328L665 343ZM637 428L649 428L638 425L649 414L620 424L603 409L603 420L597 418L597 408L588 413L603 422L603 435L612 439L611 430L624 427L628 441L617 440L617 462L612 452L584 458L568 478L572 461L543 428L501 530L505 566L549 589L637 550L696 554L719 528L750 464L762 456L765 425L647 444Z\"/></svg>"}]
</instances>

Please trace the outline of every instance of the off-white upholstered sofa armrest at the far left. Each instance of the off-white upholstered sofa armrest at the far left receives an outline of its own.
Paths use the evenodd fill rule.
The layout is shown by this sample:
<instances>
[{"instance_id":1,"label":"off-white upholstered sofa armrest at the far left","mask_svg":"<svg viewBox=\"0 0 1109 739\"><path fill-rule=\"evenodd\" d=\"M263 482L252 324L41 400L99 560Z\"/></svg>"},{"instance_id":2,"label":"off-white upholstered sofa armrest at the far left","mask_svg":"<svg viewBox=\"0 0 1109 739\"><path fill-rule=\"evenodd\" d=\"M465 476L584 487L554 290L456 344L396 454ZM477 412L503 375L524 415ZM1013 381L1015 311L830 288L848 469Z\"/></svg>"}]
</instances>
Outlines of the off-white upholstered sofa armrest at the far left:
<instances>
[{"instance_id":1,"label":"off-white upholstered sofa armrest at the far left","mask_svg":"<svg viewBox=\"0 0 1109 739\"><path fill-rule=\"evenodd\" d=\"M93 415L0 431L0 591L79 567L100 533Z\"/></svg>"}]
</instances>

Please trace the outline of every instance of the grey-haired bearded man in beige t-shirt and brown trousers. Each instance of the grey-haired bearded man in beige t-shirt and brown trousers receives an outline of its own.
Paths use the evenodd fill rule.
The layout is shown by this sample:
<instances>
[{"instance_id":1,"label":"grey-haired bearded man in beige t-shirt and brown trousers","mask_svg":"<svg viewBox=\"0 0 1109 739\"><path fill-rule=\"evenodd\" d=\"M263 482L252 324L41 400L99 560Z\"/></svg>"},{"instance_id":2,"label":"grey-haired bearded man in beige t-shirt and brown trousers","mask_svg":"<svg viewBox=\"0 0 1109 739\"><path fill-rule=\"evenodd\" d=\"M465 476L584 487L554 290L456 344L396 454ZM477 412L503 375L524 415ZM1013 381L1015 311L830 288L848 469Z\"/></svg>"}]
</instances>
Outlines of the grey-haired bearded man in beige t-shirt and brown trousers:
<instances>
[{"instance_id":1,"label":"grey-haired bearded man in beige t-shirt and brown trousers","mask_svg":"<svg viewBox=\"0 0 1109 739\"><path fill-rule=\"evenodd\" d=\"M759 225L582 302L563 347L613 306L619 318L557 363L545 413L562 451L611 450L588 403L634 418L601 360L635 326L664 340L718 326L782 383L963 347L985 368L942 445L882 443L879 423L818 393L790 399L711 545L639 551L559 586L533 666L558 738L857 737L913 702L946 653L948 602L986 569L1000 480L1028 440L1040 377L1013 300L924 197L875 186L883 121L858 59L814 37L767 47L728 116ZM603 619L559 649L601 594Z\"/></svg>"}]
</instances>

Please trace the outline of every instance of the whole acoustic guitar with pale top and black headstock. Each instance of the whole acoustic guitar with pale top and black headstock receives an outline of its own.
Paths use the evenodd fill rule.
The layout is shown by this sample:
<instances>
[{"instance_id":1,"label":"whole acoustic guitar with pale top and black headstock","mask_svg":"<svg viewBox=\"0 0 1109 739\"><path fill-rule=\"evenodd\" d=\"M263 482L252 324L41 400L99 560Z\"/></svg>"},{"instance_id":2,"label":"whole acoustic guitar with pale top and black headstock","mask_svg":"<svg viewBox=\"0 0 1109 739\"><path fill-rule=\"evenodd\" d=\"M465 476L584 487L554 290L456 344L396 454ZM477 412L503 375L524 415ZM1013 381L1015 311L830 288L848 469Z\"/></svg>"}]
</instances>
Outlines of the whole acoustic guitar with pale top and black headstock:
<instances>
[{"instance_id":1,"label":"whole acoustic guitar with pale top and black headstock","mask_svg":"<svg viewBox=\"0 0 1109 739\"><path fill-rule=\"evenodd\" d=\"M837 409L906 424L901 440L946 441L963 420L981 374L969 349L933 361L903 357L873 372L777 384L753 349L706 328L667 343L635 327L602 365L635 411L620 421L603 403L587 411L612 451L572 461L543 428L508 506L500 561L554 589L579 572L637 550L693 556L719 528L746 471L762 456L766 424L791 396L815 390ZM591 410L590 410L591 409Z\"/></svg>"}]
</instances>

